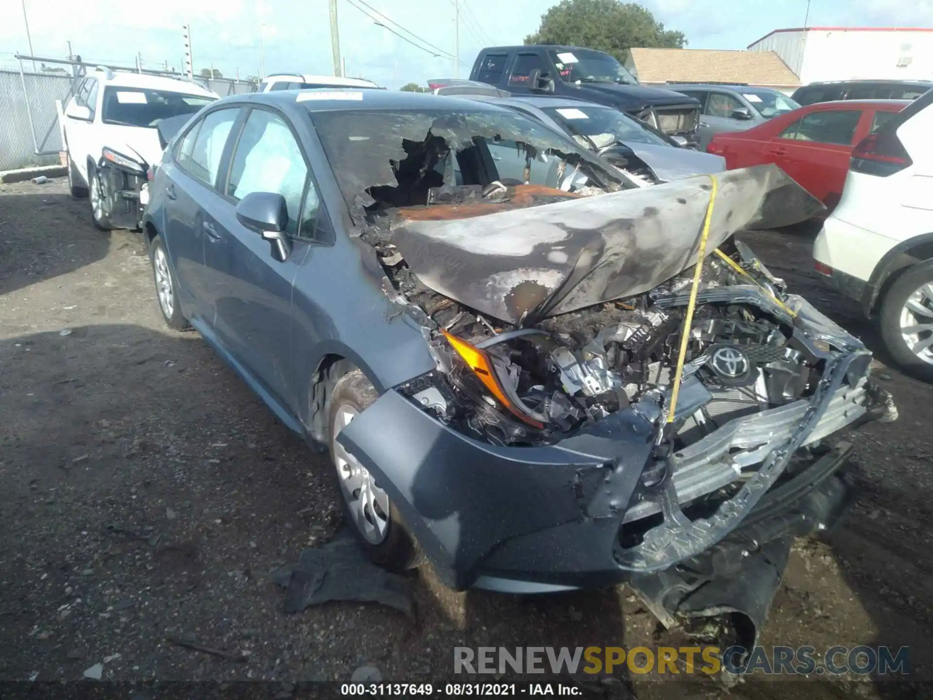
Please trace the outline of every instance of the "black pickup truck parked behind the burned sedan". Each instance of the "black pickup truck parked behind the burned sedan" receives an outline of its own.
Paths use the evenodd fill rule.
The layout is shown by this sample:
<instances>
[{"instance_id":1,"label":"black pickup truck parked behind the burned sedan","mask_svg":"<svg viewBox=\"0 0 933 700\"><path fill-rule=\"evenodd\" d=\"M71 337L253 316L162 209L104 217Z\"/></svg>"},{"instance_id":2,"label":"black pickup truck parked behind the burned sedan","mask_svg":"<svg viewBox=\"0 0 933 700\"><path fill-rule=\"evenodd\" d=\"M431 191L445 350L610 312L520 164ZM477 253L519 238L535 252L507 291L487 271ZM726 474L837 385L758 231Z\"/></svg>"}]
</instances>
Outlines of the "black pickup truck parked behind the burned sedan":
<instances>
[{"instance_id":1,"label":"black pickup truck parked behind the burned sedan","mask_svg":"<svg viewBox=\"0 0 933 700\"><path fill-rule=\"evenodd\" d=\"M470 79L513 94L553 94L615 107L682 137L686 145L697 142L699 102L679 92L639 85L603 51L550 44L482 49Z\"/></svg>"}]
</instances>

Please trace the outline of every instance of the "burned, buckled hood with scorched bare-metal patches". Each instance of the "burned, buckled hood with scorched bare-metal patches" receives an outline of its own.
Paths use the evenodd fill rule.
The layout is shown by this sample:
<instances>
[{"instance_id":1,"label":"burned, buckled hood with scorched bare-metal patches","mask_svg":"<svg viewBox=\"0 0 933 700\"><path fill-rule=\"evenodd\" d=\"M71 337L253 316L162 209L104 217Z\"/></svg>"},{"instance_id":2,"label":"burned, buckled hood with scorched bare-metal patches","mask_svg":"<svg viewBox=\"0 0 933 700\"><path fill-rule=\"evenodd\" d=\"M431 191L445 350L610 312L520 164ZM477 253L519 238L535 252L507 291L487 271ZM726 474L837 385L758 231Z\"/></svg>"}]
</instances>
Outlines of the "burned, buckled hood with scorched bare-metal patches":
<instances>
[{"instance_id":1,"label":"burned, buckled hood with scorched bare-metal patches","mask_svg":"<svg viewBox=\"0 0 933 700\"><path fill-rule=\"evenodd\" d=\"M787 226L824 208L774 165L717 180L707 253L735 231ZM402 217L392 241L426 287L522 325L642 294L694 264L711 189L701 175L479 217Z\"/></svg>"}]
</instances>

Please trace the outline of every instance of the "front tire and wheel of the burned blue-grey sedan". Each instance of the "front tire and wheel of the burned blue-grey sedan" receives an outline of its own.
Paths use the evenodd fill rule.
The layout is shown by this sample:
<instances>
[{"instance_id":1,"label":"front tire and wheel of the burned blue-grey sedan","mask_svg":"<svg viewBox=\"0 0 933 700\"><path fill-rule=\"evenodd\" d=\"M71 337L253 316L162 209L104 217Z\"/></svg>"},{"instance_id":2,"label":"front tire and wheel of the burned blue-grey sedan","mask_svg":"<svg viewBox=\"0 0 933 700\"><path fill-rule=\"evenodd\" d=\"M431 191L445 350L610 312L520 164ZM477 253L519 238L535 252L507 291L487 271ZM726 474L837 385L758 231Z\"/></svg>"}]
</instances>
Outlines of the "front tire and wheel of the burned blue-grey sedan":
<instances>
[{"instance_id":1,"label":"front tire and wheel of the burned blue-grey sedan","mask_svg":"<svg viewBox=\"0 0 933 700\"><path fill-rule=\"evenodd\" d=\"M343 516L373 563L391 571L419 564L418 547L394 504L369 471L338 442L340 431L379 396L362 371L344 374L334 387L328 411L328 442Z\"/></svg>"}]
</instances>

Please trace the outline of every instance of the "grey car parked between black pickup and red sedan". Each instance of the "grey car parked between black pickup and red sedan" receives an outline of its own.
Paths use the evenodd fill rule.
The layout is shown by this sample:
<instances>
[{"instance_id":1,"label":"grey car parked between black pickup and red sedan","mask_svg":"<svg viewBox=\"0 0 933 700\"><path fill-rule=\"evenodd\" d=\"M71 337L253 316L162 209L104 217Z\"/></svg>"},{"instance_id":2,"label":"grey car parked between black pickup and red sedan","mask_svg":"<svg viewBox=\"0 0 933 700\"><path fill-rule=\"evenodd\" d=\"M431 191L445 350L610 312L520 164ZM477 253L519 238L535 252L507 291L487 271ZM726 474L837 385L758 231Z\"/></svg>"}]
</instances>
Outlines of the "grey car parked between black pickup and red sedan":
<instances>
[{"instance_id":1,"label":"grey car parked between black pickup and red sedan","mask_svg":"<svg viewBox=\"0 0 933 700\"><path fill-rule=\"evenodd\" d=\"M700 101L701 148L715 133L742 132L800 106L783 92L768 88L693 83L668 83L668 87Z\"/></svg>"}]
</instances>

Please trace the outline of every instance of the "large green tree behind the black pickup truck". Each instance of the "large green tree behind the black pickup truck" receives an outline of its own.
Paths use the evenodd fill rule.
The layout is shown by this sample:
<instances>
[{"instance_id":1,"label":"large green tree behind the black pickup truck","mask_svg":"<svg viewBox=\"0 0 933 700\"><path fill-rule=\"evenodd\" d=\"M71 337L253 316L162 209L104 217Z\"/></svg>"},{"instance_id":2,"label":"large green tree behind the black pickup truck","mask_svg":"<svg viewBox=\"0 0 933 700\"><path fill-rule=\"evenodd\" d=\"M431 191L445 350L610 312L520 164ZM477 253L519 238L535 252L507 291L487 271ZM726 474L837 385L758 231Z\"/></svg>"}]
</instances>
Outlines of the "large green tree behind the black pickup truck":
<instances>
[{"instance_id":1,"label":"large green tree behind the black pickup truck","mask_svg":"<svg viewBox=\"0 0 933 700\"><path fill-rule=\"evenodd\" d=\"M683 49L683 32L664 29L645 7L619 0L561 0L541 15L525 44L568 44L611 53L620 62L636 48Z\"/></svg>"}]
</instances>

